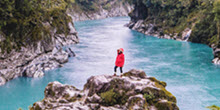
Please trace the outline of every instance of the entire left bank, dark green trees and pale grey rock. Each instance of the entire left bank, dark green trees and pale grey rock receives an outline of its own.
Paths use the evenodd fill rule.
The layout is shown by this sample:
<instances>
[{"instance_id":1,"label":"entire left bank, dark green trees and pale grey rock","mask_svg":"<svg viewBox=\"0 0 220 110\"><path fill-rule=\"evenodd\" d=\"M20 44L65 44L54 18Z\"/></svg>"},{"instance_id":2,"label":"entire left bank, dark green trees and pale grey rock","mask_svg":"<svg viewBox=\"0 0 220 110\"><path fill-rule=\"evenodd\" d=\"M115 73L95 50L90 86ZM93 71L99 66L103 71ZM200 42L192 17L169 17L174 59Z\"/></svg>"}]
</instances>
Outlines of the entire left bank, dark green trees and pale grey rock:
<instances>
[{"instance_id":1,"label":"entire left bank, dark green trees and pale grey rock","mask_svg":"<svg viewBox=\"0 0 220 110\"><path fill-rule=\"evenodd\" d=\"M0 1L0 85L16 77L41 77L75 56L64 45L78 42L72 1Z\"/></svg>"}]
</instances>

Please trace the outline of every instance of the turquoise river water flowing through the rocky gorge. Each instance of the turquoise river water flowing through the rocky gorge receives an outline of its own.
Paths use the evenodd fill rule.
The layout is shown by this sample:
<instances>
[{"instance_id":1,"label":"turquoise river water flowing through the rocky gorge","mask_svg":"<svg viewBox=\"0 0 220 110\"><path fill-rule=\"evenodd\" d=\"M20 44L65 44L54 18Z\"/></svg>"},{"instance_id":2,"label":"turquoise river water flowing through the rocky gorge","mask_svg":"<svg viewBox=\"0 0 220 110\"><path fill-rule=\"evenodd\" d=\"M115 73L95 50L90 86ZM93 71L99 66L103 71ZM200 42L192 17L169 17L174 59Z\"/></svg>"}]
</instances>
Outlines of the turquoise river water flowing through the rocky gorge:
<instances>
[{"instance_id":1,"label":"turquoise river water flowing through the rocky gorge","mask_svg":"<svg viewBox=\"0 0 220 110\"><path fill-rule=\"evenodd\" d=\"M167 82L180 110L207 110L220 104L220 66L211 63L212 49L203 44L158 39L129 30L128 17L76 22L80 43L76 57L42 78L17 78L0 87L0 110L16 110L44 97L49 82L82 89L92 75L113 74L116 50L125 50L124 71L142 69Z\"/></svg>"}]
</instances>

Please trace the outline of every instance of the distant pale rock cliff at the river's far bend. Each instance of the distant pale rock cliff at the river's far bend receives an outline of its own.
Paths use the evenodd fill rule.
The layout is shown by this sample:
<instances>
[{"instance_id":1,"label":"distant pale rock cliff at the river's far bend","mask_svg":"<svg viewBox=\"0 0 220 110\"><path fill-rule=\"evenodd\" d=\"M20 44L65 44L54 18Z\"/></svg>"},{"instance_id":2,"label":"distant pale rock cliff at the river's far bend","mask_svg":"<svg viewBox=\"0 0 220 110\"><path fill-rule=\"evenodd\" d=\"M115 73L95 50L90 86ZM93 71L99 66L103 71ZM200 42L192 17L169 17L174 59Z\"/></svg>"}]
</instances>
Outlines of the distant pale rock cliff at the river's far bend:
<instances>
[{"instance_id":1,"label":"distant pale rock cliff at the river's far bend","mask_svg":"<svg viewBox=\"0 0 220 110\"><path fill-rule=\"evenodd\" d=\"M68 10L68 13L72 16L73 21L128 16L128 13L133 9L133 5L128 3L126 0L77 1L72 5L72 8Z\"/></svg>"}]
</instances>

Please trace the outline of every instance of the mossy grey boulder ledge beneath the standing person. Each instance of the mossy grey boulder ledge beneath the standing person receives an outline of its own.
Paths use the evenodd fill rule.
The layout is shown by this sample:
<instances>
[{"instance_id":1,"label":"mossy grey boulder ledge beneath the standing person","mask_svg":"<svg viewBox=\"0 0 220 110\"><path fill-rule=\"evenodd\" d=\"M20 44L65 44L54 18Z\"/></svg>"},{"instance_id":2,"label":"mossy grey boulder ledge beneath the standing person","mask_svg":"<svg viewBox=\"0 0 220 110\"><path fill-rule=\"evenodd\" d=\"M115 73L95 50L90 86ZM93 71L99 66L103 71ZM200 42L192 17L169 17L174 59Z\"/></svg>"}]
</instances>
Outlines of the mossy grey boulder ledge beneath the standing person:
<instances>
[{"instance_id":1,"label":"mossy grey boulder ledge beneath the standing person","mask_svg":"<svg viewBox=\"0 0 220 110\"><path fill-rule=\"evenodd\" d=\"M179 110L175 96L165 87L165 82L135 69L122 77L92 76L83 90L51 82L44 99L30 110Z\"/></svg>"}]
</instances>

